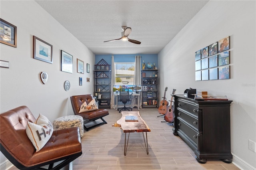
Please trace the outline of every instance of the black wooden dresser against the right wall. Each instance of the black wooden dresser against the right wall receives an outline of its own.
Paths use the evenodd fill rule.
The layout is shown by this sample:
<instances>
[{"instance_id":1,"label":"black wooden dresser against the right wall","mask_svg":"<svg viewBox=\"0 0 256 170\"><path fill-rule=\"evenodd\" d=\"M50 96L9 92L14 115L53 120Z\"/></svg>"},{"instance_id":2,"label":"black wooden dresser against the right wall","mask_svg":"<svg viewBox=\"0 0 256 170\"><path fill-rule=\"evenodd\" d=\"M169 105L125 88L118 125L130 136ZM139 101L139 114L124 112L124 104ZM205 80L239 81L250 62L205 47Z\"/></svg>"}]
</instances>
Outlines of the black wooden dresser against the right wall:
<instances>
[{"instance_id":1,"label":"black wooden dresser against the right wall","mask_svg":"<svg viewBox=\"0 0 256 170\"><path fill-rule=\"evenodd\" d=\"M230 103L232 101L196 101L174 96L173 134L179 135L195 152L196 160L220 159L231 163Z\"/></svg>"}]
</instances>

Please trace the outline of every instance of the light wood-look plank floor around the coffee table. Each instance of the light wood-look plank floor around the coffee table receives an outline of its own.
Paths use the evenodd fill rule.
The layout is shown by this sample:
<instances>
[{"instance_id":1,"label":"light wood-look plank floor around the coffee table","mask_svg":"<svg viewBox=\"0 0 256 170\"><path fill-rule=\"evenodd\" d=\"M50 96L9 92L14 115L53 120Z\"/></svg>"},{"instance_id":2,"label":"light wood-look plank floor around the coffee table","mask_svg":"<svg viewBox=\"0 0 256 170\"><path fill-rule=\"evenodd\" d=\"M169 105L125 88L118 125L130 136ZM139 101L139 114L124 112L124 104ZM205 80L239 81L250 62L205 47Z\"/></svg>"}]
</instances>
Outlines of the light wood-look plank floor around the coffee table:
<instances>
[{"instance_id":1,"label":"light wood-look plank floor around the coffee table","mask_svg":"<svg viewBox=\"0 0 256 170\"><path fill-rule=\"evenodd\" d=\"M124 156L125 134L119 127L112 127L122 114L109 109L109 115L104 117L108 124L84 131L83 154L73 161L73 170L239 170L234 164L220 160L198 163L193 150L172 134L172 125L161 123L164 117L157 117L160 115L157 108L140 109L140 115L151 130L148 155L142 133L134 132L130 133Z\"/></svg>"}]
</instances>

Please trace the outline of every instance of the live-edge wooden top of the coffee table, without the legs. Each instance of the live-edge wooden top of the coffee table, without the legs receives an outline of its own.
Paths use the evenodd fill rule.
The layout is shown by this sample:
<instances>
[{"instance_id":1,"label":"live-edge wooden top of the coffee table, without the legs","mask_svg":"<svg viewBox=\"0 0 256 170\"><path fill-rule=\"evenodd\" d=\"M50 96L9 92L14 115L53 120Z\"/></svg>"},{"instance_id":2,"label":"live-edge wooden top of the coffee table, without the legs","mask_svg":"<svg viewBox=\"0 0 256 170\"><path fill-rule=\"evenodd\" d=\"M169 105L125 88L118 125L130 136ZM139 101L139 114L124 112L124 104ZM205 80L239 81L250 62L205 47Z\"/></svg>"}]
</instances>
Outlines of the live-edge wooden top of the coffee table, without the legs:
<instances>
[{"instance_id":1,"label":"live-edge wooden top of the coffee table, without the legs","mask_svg":"<svg viewBox=\"0 0 256 170\"><path fill-rule=\"evenodd\" d=\"M137 116L138 121L125 121L125 116ZM124 133L151 131L146 122L140 117L138 111L122 111L121 119L119 119L114 126L121 127Z\"/></svg>"}]
</instances>

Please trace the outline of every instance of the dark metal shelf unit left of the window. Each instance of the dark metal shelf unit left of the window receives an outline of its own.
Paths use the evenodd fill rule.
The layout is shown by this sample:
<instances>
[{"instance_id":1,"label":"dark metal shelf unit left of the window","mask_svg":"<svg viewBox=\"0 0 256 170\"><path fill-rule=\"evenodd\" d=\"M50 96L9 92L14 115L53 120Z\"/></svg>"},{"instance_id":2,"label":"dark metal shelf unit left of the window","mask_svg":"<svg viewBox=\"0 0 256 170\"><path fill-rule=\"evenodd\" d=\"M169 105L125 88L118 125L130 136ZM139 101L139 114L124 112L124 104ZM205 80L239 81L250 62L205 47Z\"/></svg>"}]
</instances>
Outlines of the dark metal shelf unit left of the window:
<instances>
[{"instance_id":1,"label":"dark metal shelf unit left of the window","mask_svg":"<svg viewBox=\"0 0 256 170\"><path fill-rule=\"evenodd\" d=\"M94 93L99 108L110 108L111 70L94 70Z\"/></svg>"}]
</instances>

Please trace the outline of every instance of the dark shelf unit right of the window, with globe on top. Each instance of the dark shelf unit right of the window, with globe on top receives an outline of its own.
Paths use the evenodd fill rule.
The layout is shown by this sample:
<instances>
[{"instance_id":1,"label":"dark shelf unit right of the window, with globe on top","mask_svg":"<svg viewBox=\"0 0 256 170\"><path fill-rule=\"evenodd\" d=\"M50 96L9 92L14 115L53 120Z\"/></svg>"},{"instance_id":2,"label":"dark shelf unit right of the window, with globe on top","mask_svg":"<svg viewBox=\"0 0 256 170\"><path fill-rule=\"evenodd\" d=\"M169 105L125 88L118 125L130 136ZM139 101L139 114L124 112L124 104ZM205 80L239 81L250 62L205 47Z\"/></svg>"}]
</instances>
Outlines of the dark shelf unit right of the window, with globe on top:
<instances>
[{"instance_id":1,"label":"dark shelf unit right of the window, with globe on top","mask_svg":"<svg viewBox=\"0 0 256 170\"><path fill-rule=\"evenodd\" d=\"M157 69L141 70L142 108L158 108L158 76Z\"/></svg>"}]
</instances>

